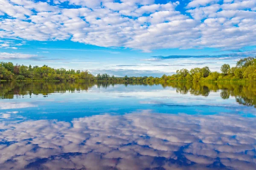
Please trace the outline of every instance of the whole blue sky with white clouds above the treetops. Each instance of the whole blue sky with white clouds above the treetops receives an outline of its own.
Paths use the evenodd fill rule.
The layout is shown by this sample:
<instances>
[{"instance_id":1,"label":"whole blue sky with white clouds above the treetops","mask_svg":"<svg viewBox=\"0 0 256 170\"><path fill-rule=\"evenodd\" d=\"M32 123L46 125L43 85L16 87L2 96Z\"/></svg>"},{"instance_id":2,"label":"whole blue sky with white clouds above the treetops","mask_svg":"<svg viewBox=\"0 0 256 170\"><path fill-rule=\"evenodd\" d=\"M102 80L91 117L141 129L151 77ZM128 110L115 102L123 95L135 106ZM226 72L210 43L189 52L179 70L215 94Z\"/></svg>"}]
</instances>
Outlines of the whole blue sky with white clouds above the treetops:
<instances>
[{"instance_id":1,"label":"whole blue sky with white clouds above the treetops","mask_svg":"<svg viewBox=\"0 0 256 170\"><path fill-rule=\"evenodd\" d=\"M0 61L122 77L256 56L256 0L0 0Z\"/></svg>"}]
</instances>

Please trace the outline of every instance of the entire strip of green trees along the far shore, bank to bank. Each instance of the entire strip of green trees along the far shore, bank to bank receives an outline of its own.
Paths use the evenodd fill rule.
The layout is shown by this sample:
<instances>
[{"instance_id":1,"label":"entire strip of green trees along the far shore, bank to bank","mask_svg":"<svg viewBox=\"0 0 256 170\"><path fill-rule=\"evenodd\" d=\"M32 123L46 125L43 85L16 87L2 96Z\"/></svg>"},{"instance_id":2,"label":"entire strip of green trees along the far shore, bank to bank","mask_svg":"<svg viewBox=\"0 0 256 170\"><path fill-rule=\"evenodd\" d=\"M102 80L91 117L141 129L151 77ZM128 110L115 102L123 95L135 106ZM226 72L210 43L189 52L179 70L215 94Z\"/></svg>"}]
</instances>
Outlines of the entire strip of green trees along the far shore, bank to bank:
<instances>
[{"instance_id":1,"label":"entire strip of green trees along the far shore, bank to bank","mask_svg":"<svg viewBox=\"0 0 256 170\"><path fill-rule=\"evenodd\" d=\"M221 73L210 71L209 67L186 68L177 70L176 74L162 77L115 77L108 74L94 76L89 71L66 70L65 68L51 68L48 65L26 66L14 65L12 62L0 62L0 81L110 81L110 82L202 82L202 81L256 81L256 58L247 57L240 59L235 67L229 64L221 66Z\"/></svg>"}]
</instances>

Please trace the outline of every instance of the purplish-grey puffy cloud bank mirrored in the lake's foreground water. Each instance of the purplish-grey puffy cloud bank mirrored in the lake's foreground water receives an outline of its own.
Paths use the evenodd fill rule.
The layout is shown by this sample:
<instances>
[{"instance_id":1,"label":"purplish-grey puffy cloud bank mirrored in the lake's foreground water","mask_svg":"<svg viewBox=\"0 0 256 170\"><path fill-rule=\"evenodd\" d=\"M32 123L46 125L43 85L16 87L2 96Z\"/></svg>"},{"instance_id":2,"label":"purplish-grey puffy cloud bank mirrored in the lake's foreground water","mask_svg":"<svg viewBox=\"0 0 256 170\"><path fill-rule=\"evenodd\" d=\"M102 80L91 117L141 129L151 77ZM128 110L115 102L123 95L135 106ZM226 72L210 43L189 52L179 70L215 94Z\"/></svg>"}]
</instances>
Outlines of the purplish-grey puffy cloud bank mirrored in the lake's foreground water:
<instances>
[{"instance_id":1,"label":"purplish-grey puffy cloud bank mirrored in the lake's foreground water","mask_svg":"<svg viewBox=\"0 0 256 170\"><path fill-rule=\"evenodd\" d=\"M0 169L256 168L255 118L137 111L0 124Z\"/></svg>"}]
</instances>

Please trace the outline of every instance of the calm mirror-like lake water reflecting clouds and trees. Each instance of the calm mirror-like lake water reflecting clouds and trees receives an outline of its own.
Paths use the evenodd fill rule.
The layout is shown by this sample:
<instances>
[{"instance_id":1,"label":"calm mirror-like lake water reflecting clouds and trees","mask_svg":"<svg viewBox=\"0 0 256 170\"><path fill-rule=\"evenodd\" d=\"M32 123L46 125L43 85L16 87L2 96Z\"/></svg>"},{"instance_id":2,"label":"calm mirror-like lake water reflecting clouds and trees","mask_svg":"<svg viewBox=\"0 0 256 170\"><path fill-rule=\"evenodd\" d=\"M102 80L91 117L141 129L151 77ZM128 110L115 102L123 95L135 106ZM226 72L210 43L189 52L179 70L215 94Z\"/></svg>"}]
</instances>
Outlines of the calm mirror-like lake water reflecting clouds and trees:
<instances>
[{"instance_id":1,"label":"calm mirror-like lake water reflecting clouds and trees","mask_svg":"<svg viewBox=\"0 0 256 170\"><path fill-rule=\"evenodd\" d=\"M255 170L256 84L0 82L0 169Z\"/></svg>"}]
</instances>

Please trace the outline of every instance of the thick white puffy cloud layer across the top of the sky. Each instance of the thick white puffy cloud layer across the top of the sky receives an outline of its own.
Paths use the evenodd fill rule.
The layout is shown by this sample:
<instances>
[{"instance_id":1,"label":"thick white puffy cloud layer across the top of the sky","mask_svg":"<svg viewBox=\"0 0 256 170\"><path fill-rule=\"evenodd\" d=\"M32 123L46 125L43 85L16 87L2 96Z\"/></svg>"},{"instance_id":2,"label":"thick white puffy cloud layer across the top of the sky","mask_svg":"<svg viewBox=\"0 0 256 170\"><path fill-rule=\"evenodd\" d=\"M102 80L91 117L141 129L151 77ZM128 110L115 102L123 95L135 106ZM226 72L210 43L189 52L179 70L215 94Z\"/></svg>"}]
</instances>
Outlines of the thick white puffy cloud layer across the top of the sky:
<instances>
[{"instance_id":1,"label":"thick white puffy cloud layer across the top of the sky","mask_svg":"<svg viewBox=\"0 0 256 170\"><path fill-rule=\"evenodd\" d=\"M192 0L187 5L154 0L47 2L1 0L0 38L72 40L145 52L256 45L254 0Z\"/></svg>"}]
</instances>

